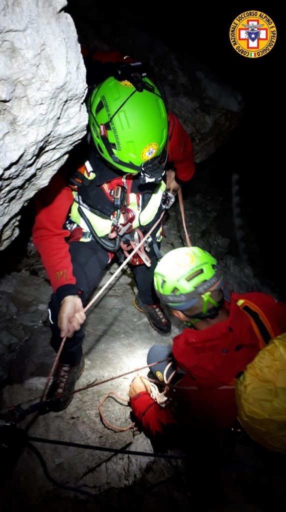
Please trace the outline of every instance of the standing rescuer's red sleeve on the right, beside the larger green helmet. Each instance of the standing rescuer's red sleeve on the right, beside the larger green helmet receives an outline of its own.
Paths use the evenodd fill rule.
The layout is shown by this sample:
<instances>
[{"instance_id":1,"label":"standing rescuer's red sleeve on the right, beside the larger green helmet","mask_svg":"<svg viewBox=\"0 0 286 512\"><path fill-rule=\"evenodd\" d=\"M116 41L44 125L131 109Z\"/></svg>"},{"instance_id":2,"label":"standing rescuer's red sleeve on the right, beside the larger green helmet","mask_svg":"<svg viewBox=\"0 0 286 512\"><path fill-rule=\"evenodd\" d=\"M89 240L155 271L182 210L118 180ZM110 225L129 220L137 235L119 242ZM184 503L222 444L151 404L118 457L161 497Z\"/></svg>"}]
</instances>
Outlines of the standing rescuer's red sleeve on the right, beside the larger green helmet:
<instances>
[{"instance_id":1,"label":"standing rescuer's red sleeve on the right, beside the larger green helmet","mask_svg":"<svg viewBox=\"0 0 286 512\"><path fill-rule=\"evenodd\" d=\"M169 114L169 155L168 162L175 170L175 179L182 185L195 174L192 141L174 114Z\"/></svg>"}]
</instances>

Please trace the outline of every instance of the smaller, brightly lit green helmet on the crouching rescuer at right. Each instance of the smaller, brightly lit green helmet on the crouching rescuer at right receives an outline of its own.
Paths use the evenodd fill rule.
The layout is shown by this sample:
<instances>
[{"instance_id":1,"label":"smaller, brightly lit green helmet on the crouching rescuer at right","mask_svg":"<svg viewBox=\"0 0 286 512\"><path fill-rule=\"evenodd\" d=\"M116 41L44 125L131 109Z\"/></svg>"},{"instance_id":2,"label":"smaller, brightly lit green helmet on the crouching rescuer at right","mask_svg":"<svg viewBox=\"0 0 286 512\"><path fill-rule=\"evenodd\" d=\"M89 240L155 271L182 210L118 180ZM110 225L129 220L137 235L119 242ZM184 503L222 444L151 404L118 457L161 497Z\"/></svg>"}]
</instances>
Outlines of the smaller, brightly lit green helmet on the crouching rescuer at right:
<instances>
[{"instance_id":1,"label":"smaller, brightly lit green helmet on the crouching rescuer at right","mask_svg":"<svg viewBox=\"0 0 286 512\"><path fill-rule=\"evenodd\" d=\"M208 302L214 308L220 307L210 292L223 287L223 276L217 260L208 252L199 247L180 247L159 261L154 286L161 301L172 309L183 311L195 306L202 297L202 313L206 314Z\"/></svg>"}]
</instances>

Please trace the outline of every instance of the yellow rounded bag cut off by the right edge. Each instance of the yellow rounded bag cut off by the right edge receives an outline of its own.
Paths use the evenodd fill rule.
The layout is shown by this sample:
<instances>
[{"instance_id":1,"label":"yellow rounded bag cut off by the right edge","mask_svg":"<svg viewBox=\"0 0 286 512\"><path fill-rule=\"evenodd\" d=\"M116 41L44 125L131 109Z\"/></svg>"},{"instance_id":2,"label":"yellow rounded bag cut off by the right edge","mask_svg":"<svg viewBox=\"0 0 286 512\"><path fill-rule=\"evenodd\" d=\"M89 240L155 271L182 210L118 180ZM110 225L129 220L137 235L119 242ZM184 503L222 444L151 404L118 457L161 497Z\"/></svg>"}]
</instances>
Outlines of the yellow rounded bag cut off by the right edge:
<instances>
[{"instance_id":1,"label":"yellow rounded bag cut off by the right edge","mask_svg":"<svg viewBox=\"0 0 286 512\"><path fill-rule=\"evenodd\" d=\"M236 382L238 419L267 449L286 454L286 333L260 350Z\"/></svg>"}]
</instances>

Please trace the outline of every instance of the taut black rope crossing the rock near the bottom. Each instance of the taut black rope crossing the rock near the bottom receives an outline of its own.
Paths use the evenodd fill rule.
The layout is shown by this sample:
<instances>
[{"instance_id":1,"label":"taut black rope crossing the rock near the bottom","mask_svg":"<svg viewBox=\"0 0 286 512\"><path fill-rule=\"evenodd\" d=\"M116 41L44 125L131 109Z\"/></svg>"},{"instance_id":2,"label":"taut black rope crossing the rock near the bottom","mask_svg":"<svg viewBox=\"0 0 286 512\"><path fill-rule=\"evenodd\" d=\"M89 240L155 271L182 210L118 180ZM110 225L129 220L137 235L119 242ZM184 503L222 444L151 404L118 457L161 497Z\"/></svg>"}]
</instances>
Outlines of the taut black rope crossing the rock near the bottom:
<instances>
[{"instance_id":1,"label":"taut black rope crossing the rock near the bottom","mask_svg":"<svg viewBox=\"0 0 286 512\"><path fill-rule=\"evenodd\" d=\"M108 448L106 446L95 446L93 444L82 444L82 443L70 443L67 441L57 441L56 439L45 439L44 437L33 437L29 436L28 441L35 441L46 444L59 444L61 446L72 446L74 448L82 448L84 450L96 450L98 452L111 452L111 453L122 453L124 455L138 455L141 457L154 457L157 459L174 459L184 460L186 455L170 455L163 453L152 453L152 452L135 452L134 450L122 450L120 448ZM30 443L29 443L30 444Z\"/></svg>"}]
</instances>

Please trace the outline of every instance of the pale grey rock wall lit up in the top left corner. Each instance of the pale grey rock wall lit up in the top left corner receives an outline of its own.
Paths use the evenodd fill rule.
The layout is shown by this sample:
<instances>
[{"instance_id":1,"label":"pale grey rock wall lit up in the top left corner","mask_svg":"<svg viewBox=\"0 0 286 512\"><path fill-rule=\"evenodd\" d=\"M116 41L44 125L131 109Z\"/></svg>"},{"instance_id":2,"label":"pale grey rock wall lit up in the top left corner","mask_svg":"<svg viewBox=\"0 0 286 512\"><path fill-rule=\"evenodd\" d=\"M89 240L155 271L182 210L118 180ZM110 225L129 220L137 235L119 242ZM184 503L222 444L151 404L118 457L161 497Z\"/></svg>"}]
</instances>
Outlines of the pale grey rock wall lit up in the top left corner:
<instances>
[{"instance_id":1,"label":"pale grey rock wall lit up in the top left corner","mask_svg":"<svg viewBox=\"0 0 286 512\"><path fill-rule=\"evenodd\" d=\"M83 137L85 67L66 0L0 0L0 245Z\"/></svg>"}]
</instances>

